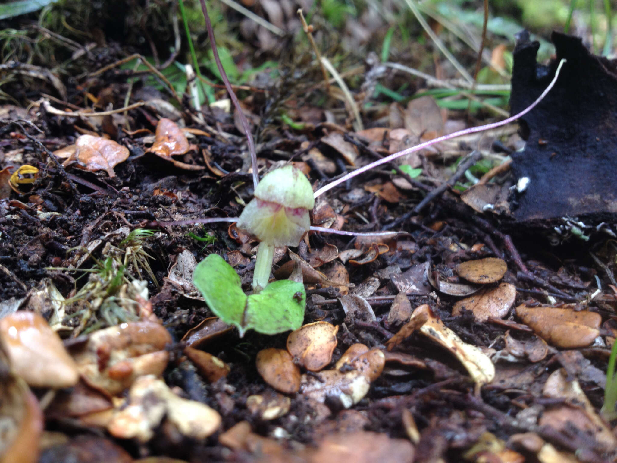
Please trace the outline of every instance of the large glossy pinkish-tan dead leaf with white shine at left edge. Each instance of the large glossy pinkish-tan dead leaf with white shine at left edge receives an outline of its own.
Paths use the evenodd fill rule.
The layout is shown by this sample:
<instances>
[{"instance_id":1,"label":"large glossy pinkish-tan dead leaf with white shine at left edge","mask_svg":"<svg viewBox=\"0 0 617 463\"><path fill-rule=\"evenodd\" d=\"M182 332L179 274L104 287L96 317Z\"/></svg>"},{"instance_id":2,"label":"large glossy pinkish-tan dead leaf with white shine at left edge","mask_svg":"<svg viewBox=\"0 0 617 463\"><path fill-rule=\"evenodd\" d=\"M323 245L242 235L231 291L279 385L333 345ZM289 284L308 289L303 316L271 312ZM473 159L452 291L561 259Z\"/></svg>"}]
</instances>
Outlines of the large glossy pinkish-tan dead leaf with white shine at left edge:
<instances>
[{"instance_id":1,"label":"large glossy pinkish-tan dead leaf with white shine at left edge","mask_svg":"<svg viewBox=\"0 0 617 463\"><path fill-rule=\"evenodd\" d=\"M12 370L29 385L57 389L79 380L77 365L41 315L18 311L0 319L0 340Z\"/></svg>"}]
</instances>

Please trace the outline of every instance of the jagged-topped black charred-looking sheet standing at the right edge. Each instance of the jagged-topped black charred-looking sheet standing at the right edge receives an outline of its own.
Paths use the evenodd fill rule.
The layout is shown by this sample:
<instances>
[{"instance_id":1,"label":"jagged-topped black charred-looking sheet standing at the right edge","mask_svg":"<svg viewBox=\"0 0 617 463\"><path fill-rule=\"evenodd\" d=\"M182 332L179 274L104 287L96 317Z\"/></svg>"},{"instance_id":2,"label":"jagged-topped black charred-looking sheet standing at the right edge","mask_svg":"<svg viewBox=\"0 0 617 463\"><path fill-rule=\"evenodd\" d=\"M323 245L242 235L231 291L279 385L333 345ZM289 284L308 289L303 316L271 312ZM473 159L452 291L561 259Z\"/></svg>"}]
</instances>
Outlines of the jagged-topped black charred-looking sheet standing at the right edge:
<instances>
[{"instance_id":1,"label":"jagged-topped black charred-looking sheet standing at the right edge","mask_svg":"<svg viewBox=\"0 0 617 463\"><path fill-rule=\"evenodd\" d=\"M511 112L529 106L549 85L561 58L555 87L524 115L524 151L514 152L514 181L528 177L511 211L518 222L570 216L617 217L617 65L591 54L578 37L553 32L556 59L536 62L539 43L518 35L512 73ZM520 184L520 183L519 183ZM518 204L517 204L518 203Z\"/></svg>"}]
</instances>

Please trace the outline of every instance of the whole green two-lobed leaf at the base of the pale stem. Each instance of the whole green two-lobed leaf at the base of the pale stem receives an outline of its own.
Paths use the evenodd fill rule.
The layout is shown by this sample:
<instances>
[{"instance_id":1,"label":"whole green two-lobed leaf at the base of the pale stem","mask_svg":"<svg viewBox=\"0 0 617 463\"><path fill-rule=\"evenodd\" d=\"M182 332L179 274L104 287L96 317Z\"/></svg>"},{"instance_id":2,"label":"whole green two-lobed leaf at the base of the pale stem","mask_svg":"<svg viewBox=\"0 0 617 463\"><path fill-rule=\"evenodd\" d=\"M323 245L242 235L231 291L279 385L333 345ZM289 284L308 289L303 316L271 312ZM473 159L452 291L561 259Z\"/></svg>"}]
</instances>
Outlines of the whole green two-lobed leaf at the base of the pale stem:
<instances>
[{"instance_id":1,"label":"whole green two-lobed leaf at the base of the pale stem","mask_svg":"<svg viewBox=\"0 0 617 463\"><path fill-rule=\"evenodd\" d=\"M240 336L246 330L275 335L302 326L306 305L302 283L278 280L247 297L236 270L223 257L210 254L197 264L193 284L210 310L223 322L238 327Z\"/></svg>"}]
</instances>

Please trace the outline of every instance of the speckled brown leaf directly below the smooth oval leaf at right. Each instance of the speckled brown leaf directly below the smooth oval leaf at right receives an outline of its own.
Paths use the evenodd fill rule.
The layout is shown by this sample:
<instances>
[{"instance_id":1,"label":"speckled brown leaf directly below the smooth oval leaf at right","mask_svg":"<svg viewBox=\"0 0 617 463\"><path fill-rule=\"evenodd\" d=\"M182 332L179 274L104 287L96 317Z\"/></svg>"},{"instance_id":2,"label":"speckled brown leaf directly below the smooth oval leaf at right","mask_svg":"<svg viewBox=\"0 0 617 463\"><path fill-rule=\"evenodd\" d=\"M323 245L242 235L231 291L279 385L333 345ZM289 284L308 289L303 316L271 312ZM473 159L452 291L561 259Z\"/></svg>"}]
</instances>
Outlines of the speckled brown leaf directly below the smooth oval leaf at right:
<instances>
[{"instance_id":1,"label":"speckled brown leaf directly below the smooth oval leaf at right","mask_svg":"<svg viewBox=\"0 0 617 463\"><path fill-rule=\"evenodd\" d=\"M500 283L497 288L480 290L465 299L454 304L452 315L457 317L463 310L473 312L478 322L486 322L489 317L502 318L514 305L516 300L516 287L510 283Z\"/></svg>"}]
</instances>

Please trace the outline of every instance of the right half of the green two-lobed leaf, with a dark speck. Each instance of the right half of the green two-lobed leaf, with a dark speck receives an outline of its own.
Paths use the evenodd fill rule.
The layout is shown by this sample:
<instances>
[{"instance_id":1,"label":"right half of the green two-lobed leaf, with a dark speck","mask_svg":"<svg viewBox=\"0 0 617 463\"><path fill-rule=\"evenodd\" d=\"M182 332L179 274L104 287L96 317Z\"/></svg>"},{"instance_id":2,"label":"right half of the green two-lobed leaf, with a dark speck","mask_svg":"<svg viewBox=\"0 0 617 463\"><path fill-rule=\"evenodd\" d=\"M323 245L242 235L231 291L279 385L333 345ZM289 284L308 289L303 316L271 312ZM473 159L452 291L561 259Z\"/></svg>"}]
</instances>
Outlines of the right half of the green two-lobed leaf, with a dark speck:
<instances>
[{"instance_id":1,"label":"right half of the green two-lobed leaf, with a dark speck","mask_svg":"<svg viewBox=\"0 0 617 463\"><path fill-rule=\"evenodd\" d=\"M302 283L272 282L260 293L249 296L244 327L265 335L297 330L304 320L306 297Z\"/></svg>"}]
</instances>

